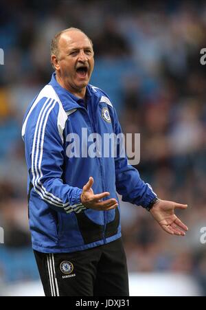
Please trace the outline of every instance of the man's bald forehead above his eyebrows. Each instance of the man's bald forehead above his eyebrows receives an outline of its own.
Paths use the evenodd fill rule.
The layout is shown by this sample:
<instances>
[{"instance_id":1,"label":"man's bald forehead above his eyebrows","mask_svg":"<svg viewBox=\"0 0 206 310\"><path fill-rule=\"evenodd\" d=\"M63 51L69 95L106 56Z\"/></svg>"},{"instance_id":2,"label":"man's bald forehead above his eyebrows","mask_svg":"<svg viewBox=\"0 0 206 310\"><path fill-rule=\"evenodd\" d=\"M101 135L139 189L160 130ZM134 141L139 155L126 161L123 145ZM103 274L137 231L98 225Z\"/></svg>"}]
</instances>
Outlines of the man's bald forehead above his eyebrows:
<instances>
[{"instance_id":1,"label":"man's bald forehead above his eyebrows","mask_svg":"<svg viewBox=\"0 0 206 310\"><path fill-rule=\"evenodd\" d=\"M92 48L89 38L80 31L68 31L63 33L60 36L58 47L59 49Z\"/></svg>"}]
</instances>

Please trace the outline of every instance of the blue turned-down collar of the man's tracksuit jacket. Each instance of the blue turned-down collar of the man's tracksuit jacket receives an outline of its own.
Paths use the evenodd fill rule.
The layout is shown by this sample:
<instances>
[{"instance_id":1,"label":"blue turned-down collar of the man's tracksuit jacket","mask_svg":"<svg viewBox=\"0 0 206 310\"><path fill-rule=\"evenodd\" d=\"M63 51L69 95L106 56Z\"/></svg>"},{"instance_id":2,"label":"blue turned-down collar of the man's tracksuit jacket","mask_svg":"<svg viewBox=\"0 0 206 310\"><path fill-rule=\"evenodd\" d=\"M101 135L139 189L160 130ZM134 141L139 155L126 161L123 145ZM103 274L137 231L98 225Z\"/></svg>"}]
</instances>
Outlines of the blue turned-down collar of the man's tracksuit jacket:
<instances>
[{"instance_id":1,"label":"blue turned-down collar of the man's tracksuit jacket","mask_svg":"<svg viewBox=\"0 0 206 310\"><path fill-rule=\"evenodd\" d=\"M84 103L84 100L74 96L72 93L67 91L67 89L61 87L56 80L55 72L52 74L52 79L49 82L49 85L51 85L58 94L58 97L60 98L60 101L62 102L62 106L65 111L82 107L82 103ZM96 99L98 99L98 102L100 100L100 96L98 96L97 93L93 91L91 85L87 85L86 96L88 102L91 102L91 98L94 96Z\"/></svg>"}]
</instances>

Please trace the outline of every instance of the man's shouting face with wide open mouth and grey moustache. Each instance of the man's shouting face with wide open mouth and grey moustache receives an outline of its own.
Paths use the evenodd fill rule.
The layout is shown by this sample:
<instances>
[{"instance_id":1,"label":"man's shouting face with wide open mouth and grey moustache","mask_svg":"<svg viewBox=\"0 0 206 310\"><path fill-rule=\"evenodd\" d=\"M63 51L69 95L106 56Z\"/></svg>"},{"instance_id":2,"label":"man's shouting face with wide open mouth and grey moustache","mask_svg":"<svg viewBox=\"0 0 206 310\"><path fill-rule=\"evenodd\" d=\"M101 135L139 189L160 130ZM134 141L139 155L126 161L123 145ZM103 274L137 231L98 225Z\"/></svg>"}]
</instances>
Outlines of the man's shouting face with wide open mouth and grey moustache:
<instances>
[{"instance_id":1,"label":"man's shouting face with wide open mouth and grey moustache","mask_svg":"<svg viewBox=\"0 0 206 310\"><path fill-rule=\"evenodd\" d=\"M60 36L57 74L67 88L80 91L89 83L94 66L93 47L89 38L80 31L71 30Z\"/></svg>"}]
</instances>

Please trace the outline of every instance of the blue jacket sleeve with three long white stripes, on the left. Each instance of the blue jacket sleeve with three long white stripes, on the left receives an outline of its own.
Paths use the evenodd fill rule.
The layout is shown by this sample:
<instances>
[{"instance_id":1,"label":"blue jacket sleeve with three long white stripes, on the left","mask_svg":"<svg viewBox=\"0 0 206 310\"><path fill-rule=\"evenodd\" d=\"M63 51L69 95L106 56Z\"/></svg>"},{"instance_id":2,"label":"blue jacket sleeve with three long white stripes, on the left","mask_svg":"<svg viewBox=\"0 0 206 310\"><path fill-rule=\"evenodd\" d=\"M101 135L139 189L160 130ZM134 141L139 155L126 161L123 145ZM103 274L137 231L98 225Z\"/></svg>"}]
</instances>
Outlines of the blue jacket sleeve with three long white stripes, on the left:
<instances>
[{"instance_id":1,"label":"blue jacket sleeve with three long white stripes, on the left","mask_svg":"<svg viewBox=\"0 0 206 310\"><path fill-rule=\"evenodd\" d=\"M81 212L82 189L63 184L63 130L66 113L58 102L50 102L38 113L36 123L25 133L25 148L30 150L30 180L36 193L60 212ZM30 116L32 118L32 115ZM30 137L31 135L31 137Z\"/></svg>"}]
</instances>

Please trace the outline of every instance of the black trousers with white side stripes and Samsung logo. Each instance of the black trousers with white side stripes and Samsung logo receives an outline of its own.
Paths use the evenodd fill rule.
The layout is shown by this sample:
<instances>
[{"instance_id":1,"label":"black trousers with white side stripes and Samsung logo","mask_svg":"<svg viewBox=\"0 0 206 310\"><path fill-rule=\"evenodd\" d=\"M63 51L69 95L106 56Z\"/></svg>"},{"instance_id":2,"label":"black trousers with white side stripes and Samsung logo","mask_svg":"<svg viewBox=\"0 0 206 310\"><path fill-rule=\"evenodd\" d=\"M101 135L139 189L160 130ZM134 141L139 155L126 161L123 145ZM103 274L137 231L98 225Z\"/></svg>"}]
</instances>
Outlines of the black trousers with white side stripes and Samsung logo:
<instances>
[{"instance_id":1,"label":"black trousers with white side stripes and Samsung logo","mask_svg":"<svg viewBox=\"0 0 206 310\"><path fill-rule=\"evenodd\" d=\"M129 296L122 239L80 252L34 255L45 296Z\"/></svg>"}]
</instances>

